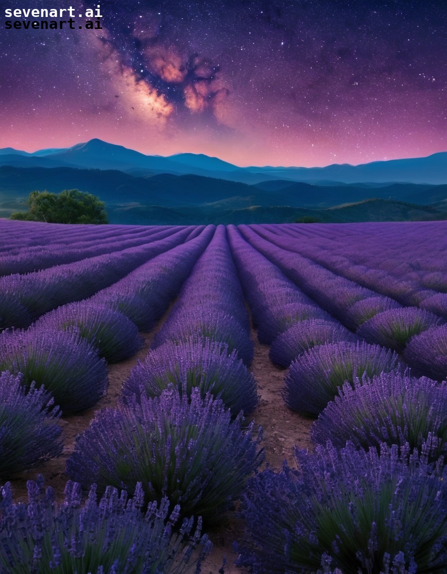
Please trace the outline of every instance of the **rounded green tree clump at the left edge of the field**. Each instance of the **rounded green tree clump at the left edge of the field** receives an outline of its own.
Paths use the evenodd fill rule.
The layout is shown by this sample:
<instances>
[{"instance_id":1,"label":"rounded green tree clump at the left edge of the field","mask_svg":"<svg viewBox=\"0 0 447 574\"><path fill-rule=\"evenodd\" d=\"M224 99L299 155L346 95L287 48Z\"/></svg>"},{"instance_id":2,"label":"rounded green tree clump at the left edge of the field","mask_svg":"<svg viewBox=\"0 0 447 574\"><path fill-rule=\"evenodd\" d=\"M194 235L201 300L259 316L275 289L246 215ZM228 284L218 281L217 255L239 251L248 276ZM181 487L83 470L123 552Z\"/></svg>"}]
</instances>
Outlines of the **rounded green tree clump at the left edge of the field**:
<instances>
[{"instance_id":1,"label":"rounded green tree clump at the left edge of the field","mask_svg":"<svg viewBox=\"0 0 447 574\"><path fill-rule=\"evenodd\" d=\"M11 219L47 223L109 223L106 205L99 197L78 189L64 189L58 195L33 191L26 201L29 211L11 215Z\"/></svg>"}]
</instances>

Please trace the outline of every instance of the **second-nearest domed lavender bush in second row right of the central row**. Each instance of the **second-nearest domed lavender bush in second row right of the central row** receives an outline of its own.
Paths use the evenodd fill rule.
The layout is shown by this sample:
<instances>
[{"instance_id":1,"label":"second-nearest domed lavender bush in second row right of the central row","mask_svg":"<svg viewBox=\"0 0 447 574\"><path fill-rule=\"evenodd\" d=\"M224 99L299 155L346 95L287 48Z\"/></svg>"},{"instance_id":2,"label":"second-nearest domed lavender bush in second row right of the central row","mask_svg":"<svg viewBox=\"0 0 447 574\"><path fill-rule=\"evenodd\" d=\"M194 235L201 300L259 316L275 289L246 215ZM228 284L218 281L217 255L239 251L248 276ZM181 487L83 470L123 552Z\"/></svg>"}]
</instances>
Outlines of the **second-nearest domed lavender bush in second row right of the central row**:
<instances>
[{"instance_id":1,"label":"second-nearest domed lavender bush in second row right of the central row","mask_svg":"<svg viewBox=\"0 0 447 574\"><path fill-rule=\"evenodd\" d=\"M424 309L405 307L377 313L357 329L357 335L401 352L414 335L442 323L442 319Z\"/></svg>"}]
</instances>

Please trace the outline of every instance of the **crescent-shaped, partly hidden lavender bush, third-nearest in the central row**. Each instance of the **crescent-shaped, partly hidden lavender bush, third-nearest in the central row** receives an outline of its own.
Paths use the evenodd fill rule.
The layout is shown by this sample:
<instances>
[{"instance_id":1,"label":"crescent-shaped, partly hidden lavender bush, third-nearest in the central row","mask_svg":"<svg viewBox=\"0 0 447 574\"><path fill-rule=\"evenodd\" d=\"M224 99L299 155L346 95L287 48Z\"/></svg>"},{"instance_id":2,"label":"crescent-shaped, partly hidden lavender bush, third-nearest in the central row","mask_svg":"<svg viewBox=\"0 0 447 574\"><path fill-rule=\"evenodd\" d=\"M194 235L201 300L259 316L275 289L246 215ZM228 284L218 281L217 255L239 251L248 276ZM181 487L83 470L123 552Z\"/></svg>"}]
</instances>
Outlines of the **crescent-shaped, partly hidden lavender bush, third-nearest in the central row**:
<instances>
[{"instance_id":1,"label":"crescent-shaped, partly hidden lavender bush, third-nearest in the central row","mask_svg":"<svg viewBox=\"0 0 447 574\"><path fill-rule=\"evenodd\" d=\"M152 347L171 340L175 343L210 339L228 346L228 352L237 352L249 365L253 360L253 342L240 322L221 311L207 308L180 309L172 313L156 333Z\"/></svg>"}]
</instances>

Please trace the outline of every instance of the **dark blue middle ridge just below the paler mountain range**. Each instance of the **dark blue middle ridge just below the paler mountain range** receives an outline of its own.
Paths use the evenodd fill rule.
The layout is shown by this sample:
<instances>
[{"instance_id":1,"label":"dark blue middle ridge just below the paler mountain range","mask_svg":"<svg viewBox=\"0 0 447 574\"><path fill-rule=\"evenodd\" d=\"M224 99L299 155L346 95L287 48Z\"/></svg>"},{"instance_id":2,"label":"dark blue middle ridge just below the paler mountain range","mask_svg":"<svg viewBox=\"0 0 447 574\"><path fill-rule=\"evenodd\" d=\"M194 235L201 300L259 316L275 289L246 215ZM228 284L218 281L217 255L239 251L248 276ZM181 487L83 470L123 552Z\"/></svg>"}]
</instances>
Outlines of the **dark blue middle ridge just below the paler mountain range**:
<instances>
[{"instance_id":1,"label":"dark blue middle ridge just below the paler mountain range","mask_svg":"<svg viewBox=\"0 0 447 574\"><path fill-rule=\"evenodd\" d=\"M245 198L244 205L247 207L291 205L306 208L356 203L372 196L420 204L447 199L447 185L391 184L371 189L354 185L325 187L290 183L286 186L265 185L261 188L259 185L194 174L176 176L164 173L136 177L120 170L0 167L0 194L9 198L26 197L34 189L58 193L62 189L72 188L94 193L107 204L140 203L167 207L209 204L232 198L234 201L241 201L235 198Z\"/></svg>"}]
</instances>

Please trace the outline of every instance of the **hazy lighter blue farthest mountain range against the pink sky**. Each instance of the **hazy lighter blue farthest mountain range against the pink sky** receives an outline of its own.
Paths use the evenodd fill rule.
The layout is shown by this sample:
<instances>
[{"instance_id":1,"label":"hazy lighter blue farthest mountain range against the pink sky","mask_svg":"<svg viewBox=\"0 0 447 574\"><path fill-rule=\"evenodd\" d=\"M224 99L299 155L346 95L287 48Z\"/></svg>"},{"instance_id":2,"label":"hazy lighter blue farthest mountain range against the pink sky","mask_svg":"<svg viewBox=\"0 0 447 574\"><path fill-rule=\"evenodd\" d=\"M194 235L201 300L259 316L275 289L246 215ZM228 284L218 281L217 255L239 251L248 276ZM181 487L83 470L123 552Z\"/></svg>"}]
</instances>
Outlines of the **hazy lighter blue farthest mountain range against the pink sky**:
<instances>
[{"instance_id":1,"label":"hazy lighter blue farthest mountain range against the pink sky","mask_svg":"<svg viewBox=\"0 0 447 574\"><path fill-rule=\"evenodd\" d=\"M11 164L13 156L16 156L16 162ZM275 180L324 184L326 187L329 185L337 187L340 183L354 184L356 187L365 187L365 184L390 183L447 184L447 152L435 153L427 157L375 161L361 165L333 164L322 168L272 166L241 168L204 154L180 153L169 157L147 156L124 146L108 144L101 139L91 139L71 148L38 150L31 154L13 148L0 149L0 165L18 165L18 157L21 158L20 166L23 167L36 165L36 157L38 157L53 162L53 164L38 164L42 166L119 169L136 176L159 173L195 174L246 184L261 184Z\"/></svg>"}]
</instances>

